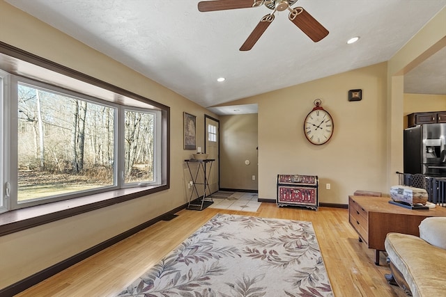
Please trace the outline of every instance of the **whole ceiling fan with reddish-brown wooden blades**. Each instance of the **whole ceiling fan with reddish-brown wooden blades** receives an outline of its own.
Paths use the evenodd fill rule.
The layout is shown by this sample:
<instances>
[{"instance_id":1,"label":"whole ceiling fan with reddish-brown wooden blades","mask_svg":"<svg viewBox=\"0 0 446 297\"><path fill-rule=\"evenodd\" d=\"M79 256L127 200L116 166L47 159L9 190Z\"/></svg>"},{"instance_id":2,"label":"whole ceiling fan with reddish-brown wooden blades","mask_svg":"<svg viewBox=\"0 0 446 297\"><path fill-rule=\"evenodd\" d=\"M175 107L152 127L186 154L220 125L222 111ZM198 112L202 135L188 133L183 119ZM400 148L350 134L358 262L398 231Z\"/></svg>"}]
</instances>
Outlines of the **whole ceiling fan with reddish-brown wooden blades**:
<instances>
[{"instance_id":1,"label":"whole ceiling fan with reddish-brown wooden blades","mask_svg":"<svg viewBox=\"0 0 446 297\"><path fill-rule=\"evenodd\" d=\"M298 0L214 0L201 1L198 3L198 10L202 13L216 10L229 10L238 8L252 8L265 5L272 10L272 13L261 18L254 31L248 36L245 43L240 47L240 51L249 51L256 44L257 40L266 31L274 20L276 11L288 9L289 20L299 27L314 42L323 40L328 35L328 30L324 28L307 10L302 7L291 8Z\"/></svg>"}]
</instances>

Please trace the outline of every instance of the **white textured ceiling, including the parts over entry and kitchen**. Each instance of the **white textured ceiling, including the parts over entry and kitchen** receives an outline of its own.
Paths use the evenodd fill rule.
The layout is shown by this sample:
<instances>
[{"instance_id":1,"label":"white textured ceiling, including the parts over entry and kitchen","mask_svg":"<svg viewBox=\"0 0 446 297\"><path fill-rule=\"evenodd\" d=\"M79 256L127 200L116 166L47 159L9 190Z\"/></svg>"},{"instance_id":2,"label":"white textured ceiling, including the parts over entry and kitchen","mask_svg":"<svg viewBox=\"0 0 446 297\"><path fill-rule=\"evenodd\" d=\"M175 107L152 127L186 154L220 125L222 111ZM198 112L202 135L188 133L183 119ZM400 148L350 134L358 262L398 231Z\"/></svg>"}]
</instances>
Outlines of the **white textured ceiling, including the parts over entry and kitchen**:
<instances>
[{"instance_id":1,"label":"white textured ceiling, including the parts over entry and kitchen","mask_svg":"<svg viewBox=\"0 0 446 297\"><path fill-rule=\"evenodd\" d=\"M197 0L6 2L204 107L388 61L446 6L446 0L299 0L293 8L302 6L323 24L326 38L313 42L287 11L277 11L253 49L239 51L272 10L200 13ZM347 45L353 36L360 40ZM405 77L406 92L446 94L445 63L443 49L415 67ZM248 107L255 110L243 112L253 111Z\"/></svg>"}]
</instances>

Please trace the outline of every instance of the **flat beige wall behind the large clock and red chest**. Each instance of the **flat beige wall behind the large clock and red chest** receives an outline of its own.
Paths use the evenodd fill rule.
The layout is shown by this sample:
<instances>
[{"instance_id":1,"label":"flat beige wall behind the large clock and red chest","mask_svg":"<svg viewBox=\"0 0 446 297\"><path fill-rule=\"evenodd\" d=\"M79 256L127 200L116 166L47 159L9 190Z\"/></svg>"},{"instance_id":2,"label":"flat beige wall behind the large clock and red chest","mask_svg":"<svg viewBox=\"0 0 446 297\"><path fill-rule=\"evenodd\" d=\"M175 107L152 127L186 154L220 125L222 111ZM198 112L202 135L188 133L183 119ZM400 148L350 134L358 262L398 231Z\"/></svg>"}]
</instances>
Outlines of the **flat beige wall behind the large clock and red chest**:
<instances>
[{"instance_id":1,"label":"flat beige wall behind the large clock and red chest","mask_svg":"<svg viewBox=\"0 0 446 297\"><path fill-rule=\"evenodd\" d=\"M259 104L259 198L275 199L277 174L293 173L318 175L325 203L347 204L357 189L387 191L386 80L386 63L380 63L230 102ZM362 101L348 102L348 90L356 88ZM332 139L320 146L303 132L316 98L334 121Z\"/></svg>"}]
</instances>

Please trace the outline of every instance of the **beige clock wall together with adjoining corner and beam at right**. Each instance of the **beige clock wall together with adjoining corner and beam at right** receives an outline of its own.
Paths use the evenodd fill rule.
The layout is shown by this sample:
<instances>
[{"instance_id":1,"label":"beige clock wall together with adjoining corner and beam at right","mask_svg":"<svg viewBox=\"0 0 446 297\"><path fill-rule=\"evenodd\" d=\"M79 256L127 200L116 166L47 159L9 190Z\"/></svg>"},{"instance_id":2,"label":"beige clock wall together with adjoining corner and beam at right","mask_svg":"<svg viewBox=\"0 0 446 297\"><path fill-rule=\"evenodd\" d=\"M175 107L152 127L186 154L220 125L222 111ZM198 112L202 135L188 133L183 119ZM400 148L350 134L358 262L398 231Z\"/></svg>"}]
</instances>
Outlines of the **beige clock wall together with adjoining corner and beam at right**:
<instances>
[{"instance_id":1,"label":"beige clock wall together with adjoining corner and beam at right","mask_svg":"<svg viewBox=\"0 0 446 297\"><path fill-rule=\"evenodd\" d=\"M355 189L387 194L398 182L395 172L403 170L403 74L445 45L443 8L387 62L387 70L373 65L226 103L259 104L259 198L275 198L277 173L318 175L321 202L346 204ZM364 99L348 103L346 92L354 88L362 88ZM333 139L321 147L302 134L317 97L335 123Z\"/></svg>"}]
</instances>

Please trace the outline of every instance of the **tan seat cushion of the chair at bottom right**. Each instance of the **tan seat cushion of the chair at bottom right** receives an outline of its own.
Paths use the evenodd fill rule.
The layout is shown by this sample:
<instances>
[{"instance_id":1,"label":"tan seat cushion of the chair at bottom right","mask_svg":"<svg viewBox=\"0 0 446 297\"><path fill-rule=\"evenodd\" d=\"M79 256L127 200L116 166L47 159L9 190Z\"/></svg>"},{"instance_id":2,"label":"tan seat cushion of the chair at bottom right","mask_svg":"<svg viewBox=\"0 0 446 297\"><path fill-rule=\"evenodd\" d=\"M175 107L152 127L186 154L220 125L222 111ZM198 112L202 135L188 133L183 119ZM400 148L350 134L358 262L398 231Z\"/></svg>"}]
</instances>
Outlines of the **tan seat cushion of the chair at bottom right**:
<instances>
[{"instance_id":1,"label":"tan seat cushion of the chair at bottom right","mask_svg":"<svg viewBox=\"0 0 446 297\"><path fill-rule=\"evenodd\" d=\"M387 234L385 250L408 283L413 297L445 296L445 250L420 237L400 233Z\"/></svg>"}]
</instances>

